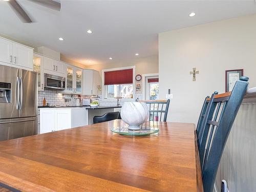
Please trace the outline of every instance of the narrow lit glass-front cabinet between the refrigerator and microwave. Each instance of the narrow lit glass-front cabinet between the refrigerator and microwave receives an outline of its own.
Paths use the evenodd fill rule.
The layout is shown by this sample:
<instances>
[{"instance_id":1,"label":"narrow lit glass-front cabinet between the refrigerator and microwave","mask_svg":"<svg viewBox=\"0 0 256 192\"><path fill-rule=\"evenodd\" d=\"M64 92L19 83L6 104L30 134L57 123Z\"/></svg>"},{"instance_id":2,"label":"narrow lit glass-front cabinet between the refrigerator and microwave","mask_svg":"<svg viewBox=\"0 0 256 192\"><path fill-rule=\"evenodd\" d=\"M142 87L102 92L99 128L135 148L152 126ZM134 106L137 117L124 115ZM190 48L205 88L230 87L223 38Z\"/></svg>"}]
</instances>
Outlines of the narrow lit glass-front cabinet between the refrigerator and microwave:
<instances>
[{"instance_id":1,"label":"narrow lit glass-front cabinet between the refrigerator and microwave","mask_svg":"<svg viewBox=\"0 0 256 192\"><path fill-rule=\"evenodd\" d=\"M43 71L44 56L34 53L33 55L33 71L37 72L38 91L44 91L44 71Z\"/></svg>"}]
</instances>

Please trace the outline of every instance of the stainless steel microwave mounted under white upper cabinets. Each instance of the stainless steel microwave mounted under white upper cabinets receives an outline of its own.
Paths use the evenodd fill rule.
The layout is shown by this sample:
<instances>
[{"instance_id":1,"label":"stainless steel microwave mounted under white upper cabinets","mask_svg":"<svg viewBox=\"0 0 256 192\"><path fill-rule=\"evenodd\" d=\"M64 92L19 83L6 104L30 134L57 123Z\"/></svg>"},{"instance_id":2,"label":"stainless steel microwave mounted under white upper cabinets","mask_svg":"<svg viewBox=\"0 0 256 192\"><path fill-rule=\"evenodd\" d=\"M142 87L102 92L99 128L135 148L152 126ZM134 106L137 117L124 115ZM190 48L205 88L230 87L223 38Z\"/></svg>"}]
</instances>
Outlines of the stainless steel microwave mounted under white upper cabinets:
<instances>
[{"instance_id":1,"label":"stainless steel microwave mounted under white upper cabinets","mask_svg":"<svg viewBox=\"0 0 256 192\"><path fill-rule=\"evenodd\" d=\"M65 90L65 77L45 73L45 88Z\"/></svg>"}]
</instances>

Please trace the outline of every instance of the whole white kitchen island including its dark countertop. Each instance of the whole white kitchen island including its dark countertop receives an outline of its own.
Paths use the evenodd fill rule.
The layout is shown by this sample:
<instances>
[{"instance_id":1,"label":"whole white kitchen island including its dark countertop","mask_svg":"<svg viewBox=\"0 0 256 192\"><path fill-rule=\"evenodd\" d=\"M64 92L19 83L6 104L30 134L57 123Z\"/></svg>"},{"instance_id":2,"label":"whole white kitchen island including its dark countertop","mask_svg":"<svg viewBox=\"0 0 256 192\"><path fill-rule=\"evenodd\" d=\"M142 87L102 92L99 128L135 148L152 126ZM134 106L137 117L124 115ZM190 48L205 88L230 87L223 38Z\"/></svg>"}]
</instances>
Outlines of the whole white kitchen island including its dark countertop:
<instances>
[{"instance_id":1,"label":"whole white kitchen island including its dark countertop","mask_svg":"<svg viewBox=\"0 0 256 192\"><path fill-rule=\"evenodd\" d=\"M39 106L38 133L93 124L93 117L120 111L121 106Z\"/></svg>"}]
</instances>

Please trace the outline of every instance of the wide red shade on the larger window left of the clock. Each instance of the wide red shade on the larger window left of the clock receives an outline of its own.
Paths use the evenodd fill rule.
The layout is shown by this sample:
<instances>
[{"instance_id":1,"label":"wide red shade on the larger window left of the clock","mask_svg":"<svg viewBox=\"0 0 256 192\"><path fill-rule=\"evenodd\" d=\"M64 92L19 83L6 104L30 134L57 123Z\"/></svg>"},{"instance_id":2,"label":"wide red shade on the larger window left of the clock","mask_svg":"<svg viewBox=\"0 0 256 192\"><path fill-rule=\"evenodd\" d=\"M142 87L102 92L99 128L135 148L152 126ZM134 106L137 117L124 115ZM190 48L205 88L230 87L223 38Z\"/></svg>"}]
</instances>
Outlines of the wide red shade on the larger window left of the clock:
<instances>
[{"instance_id":1,"label":"wide red shade on the larger window left of the clock","mask_svg":"<svg viewBox=\"0 0 256 192\"><path fill-rule=\"evenodd\" d=\"M132 84L133 69L106 71L104 72L104 85L110 84Z\"/></svg>"}]
</instances>

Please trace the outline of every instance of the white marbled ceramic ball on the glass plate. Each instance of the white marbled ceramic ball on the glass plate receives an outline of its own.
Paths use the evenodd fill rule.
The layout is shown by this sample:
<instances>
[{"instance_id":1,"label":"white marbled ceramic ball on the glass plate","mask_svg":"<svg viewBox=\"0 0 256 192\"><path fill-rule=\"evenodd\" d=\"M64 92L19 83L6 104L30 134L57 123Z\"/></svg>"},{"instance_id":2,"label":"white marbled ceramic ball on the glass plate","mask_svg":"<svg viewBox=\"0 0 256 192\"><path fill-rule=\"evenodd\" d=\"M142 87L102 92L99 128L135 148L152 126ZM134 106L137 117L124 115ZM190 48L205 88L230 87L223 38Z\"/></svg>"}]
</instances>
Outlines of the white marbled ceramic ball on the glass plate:
<instances>
[{"instance_id":1,"label":"white marbled ceramic ball on the glass plate","mask_svg":"<svg viewBox=\"0 0 256 192\"><path fill-rule=\"evenodd\" d=\"M140 130L140 125L146 122L149 112L146 103L125 102L121 108L122 120L129 124L128 129Z\"/></svg>"}]
</instances>

